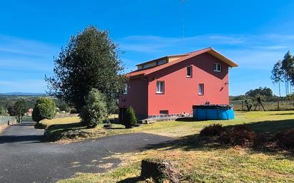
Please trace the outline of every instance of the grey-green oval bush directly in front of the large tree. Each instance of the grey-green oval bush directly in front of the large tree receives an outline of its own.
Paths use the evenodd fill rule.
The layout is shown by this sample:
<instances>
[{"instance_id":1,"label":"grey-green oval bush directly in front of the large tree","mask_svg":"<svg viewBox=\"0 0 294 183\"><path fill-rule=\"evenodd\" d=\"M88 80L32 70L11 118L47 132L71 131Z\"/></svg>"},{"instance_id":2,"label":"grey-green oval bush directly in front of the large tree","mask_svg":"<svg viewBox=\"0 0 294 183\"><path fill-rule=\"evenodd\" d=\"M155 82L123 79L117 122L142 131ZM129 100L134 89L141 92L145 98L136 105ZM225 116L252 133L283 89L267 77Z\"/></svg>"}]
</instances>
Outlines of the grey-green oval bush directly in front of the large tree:
<instances>
[{"instance_id":1,"label":"grey-green oval bush directly in front of the large tree","mask_svg":"<svg viewBox=\"0 0 294 183\"><path fill-rule=\"evenodd\" d=\"M86 105L81 110L81 120L92 128L107 118L106 97L97 89L92 89L86 98Z\"/></svg>"}]
</instances>

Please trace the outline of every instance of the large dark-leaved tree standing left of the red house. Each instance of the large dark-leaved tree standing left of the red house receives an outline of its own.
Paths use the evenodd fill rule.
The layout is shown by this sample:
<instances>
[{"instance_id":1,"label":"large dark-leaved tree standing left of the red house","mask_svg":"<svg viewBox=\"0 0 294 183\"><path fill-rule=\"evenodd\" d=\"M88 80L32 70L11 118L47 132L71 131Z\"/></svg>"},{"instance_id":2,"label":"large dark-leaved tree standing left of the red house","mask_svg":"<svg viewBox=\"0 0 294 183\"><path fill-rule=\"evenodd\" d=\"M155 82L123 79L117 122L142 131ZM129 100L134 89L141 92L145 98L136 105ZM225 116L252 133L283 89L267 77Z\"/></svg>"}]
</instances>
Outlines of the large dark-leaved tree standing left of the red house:
<instances>
[{"instance_id":1,"label":"large dark-leaved tree standing left of the red house","mask_svg":"<svg viewBox=\"0 0 294 183\"><path fill-rule=\"evenodd\" d=\"M61 48L54 60L54 77L45 77L49 93L80 112L86 96L96 88L106 96L108 111L117 110L116 101L126 80L121 75L123 65L118 53L107 31L86 27L71 36L68 46Z\"/></svg>"}]
</instances>

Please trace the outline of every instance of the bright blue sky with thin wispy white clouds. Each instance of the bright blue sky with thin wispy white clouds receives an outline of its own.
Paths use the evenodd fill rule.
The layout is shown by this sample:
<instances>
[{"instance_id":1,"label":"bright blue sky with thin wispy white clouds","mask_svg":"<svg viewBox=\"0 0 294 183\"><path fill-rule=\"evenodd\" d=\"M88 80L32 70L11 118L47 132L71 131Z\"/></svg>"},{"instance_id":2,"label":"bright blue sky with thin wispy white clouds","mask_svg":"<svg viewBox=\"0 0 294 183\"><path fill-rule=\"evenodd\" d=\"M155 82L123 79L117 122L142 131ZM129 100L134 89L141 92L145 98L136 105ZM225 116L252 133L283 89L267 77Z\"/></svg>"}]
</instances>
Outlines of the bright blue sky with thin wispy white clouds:
<instances>
[{"instance_id":1,"label":"bright blue sky with thin wispy white clouds","mask_svg":"<svg viewBox=\"0 0 294 183\"><path fill-rule=\"evenodd\" d=\"M278 94L270 70L294 46L293 9L290 0L187 0L184 52L213 47L238 63L230 70L230 95L259 86ZM126 51L126 71L183 53L181 0L1 1L0 22L0 93L44 92L54 56L89 24L107 29Z\"/></svg>"}]
</instances>

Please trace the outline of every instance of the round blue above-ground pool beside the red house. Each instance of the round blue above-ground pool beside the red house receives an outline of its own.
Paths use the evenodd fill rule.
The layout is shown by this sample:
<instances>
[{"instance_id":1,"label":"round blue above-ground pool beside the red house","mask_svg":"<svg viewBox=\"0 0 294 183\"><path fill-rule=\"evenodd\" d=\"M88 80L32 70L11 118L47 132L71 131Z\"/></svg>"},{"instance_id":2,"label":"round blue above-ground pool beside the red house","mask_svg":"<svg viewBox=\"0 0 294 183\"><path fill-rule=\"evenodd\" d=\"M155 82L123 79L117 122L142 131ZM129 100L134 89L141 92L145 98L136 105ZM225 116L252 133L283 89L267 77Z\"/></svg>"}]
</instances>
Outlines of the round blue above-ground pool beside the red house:
<instances>
[{"instance_id":1,"label":"round blue above-ground pool beside the red house","mask_svg":"<svg viewBox=\"0 0 294 183\"><path fill-rule=\"evenodd\" d=\"M196 120L232 120L232 105L193 105L193 118Z\"/></svg>"}]
</instances>

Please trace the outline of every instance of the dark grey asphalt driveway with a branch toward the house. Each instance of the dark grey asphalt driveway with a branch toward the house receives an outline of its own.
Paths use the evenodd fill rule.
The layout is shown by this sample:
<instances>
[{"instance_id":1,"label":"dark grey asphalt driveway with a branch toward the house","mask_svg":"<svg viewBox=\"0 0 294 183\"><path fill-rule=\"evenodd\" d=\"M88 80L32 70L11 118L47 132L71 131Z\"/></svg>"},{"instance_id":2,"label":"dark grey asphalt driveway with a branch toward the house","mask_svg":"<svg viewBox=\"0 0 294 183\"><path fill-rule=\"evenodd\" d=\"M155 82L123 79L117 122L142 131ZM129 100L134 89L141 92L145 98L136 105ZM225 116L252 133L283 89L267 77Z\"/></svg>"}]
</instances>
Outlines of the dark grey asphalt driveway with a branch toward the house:
<instances>
[{"instance_id":1,"label":"dark grey asphalt driveway with a branch toward the house","mask_svg":"<svg viewBox=\"0 0 294 183\"><path fill-rule=\"evenodd\" d=\"M116 152L138 152L169 137L133 133L67 145L44 142L44 130L33 124L13 125L0 134L0 182L46 183L76 172L105 172L121 160L103 159Z\"/></svg>"}]
</instances>

